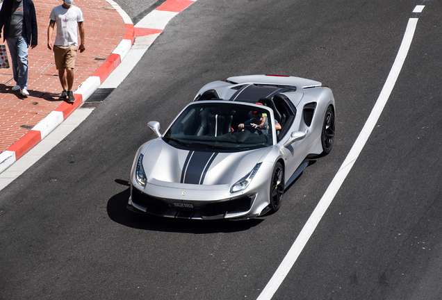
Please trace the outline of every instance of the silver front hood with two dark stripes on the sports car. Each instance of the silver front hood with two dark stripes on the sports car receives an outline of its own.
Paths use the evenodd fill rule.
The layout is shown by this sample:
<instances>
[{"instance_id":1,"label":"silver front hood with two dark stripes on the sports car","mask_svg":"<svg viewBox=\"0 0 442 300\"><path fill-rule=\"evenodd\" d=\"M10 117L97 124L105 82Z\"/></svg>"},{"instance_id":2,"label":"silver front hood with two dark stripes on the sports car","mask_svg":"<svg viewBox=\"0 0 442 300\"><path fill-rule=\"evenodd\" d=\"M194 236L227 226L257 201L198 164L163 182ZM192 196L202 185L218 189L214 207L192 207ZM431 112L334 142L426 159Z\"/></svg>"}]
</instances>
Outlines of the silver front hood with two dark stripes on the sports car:
<instances>
[{"instance_id":1,"label":"silver front hood with two dark stripes on the sports car","mask_svg":"<svg viewBox=\"0 0 442 300\"><path fill-rule=\"evenodd\" d=\"M156 185L232 185L252 171L269 148L239 152L177 149L155 140L142 149L147 182Z\"/></svg>"}]
</instances>

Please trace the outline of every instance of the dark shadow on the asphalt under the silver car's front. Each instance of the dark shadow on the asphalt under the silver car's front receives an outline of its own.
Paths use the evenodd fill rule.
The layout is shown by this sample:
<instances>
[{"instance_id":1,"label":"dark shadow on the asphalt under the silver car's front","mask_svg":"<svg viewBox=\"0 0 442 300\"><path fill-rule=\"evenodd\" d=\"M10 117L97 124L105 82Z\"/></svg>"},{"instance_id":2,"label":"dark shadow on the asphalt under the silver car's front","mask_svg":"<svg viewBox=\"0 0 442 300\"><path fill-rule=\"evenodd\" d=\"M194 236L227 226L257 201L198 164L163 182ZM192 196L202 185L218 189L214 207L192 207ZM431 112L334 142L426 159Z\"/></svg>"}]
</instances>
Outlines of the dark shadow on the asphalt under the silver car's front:
<instances>
[{"instance_id":1,"label":"dark shadow on the asphalt under the silver car's front","mask_svg":"<svg viewBox=\"0 0 442 300\"><path fill-rule=\"evenodd\" d=\"M115 182L120 185L126 185L128 188L123 192L115 194L115 196L108 200L107 212L109 218L113 220L113 222L123 226L147 231L165 231L174 233L231 233L246 231L249 228L261 224L264 220L262 218L256 218L243 221L229 221L224 219L202 221L171 219L167 217L133 213L126 208L127 201L131 196L129 183L120 179L115 180Z\"/></svg>"}]
</instances>

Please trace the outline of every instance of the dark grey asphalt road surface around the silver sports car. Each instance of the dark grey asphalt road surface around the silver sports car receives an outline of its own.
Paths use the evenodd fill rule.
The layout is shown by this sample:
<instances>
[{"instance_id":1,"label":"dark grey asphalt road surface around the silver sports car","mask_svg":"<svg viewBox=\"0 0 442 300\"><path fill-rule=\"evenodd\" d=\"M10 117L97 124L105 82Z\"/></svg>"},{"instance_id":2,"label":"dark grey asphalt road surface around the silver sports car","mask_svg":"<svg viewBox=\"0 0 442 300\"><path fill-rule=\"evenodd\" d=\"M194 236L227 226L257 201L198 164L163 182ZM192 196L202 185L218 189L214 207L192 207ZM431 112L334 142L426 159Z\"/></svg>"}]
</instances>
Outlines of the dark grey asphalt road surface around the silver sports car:
<instances>
[{"instance_id":1,"label":"dark grey asphalt road surface around the silver sports car","mask_svg":"<svg viewBox=\"0 0 442 300\"><path fill-rule=\"evenodd\" d=\"M357 139L411 17L416 34L386 108L272 299L441 299L442 5L411 13L419 4L196 1L0 192L0 299L256 299ZM202 85L240 74L329 85L331 153L273 215L188 222L126 210L133 156L154 138L147 122L165 128Z\"/></svg>"}]
</instances>

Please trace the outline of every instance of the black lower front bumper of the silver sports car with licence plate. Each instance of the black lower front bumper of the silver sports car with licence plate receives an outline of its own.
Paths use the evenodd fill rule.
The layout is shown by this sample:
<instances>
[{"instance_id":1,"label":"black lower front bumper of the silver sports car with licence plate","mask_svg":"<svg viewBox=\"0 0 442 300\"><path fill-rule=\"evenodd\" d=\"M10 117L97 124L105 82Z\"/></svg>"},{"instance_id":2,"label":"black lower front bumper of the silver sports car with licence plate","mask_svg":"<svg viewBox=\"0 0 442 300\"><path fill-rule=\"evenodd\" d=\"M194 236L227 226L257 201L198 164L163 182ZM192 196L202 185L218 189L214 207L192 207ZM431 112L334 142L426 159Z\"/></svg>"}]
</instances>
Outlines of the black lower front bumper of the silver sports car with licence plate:
<instances>
[{"instance_id":1,"label":"black lower front bumper of the silver sports car with licence plate","mask_svg":"<svg viewBox=\"0 0 442 300\"><path fill-rule=\"evenodd\" d=\"M136 213L148 213L161 217L182 219L250 219L256 194L239 195L229 199L211 201L165 199L152 197L131 185L131 197L127 208Z\"/></svg>"}]
</instances>

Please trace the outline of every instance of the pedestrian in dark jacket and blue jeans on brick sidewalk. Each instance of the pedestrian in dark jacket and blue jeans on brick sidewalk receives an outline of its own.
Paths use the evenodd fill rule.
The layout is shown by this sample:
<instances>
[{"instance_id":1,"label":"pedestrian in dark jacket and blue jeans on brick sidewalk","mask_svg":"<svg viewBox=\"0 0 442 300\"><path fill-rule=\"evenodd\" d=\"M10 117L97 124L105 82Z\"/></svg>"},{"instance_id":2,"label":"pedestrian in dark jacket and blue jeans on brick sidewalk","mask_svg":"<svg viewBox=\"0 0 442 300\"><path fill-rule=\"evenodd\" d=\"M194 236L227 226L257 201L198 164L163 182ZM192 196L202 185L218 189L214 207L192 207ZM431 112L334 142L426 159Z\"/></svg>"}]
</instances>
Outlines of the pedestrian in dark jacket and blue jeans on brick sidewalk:
<instances>
[{"instance_id":1,"label":"pedestrian in dark jacket and blue jeans on brick sidewalk","mask_svg":"<svg viewBox=\"0 0 442 300\"><path fill-rule=\"evenodd\" d=\"M4 0L0 10L0 38L3 28L3 42L8 42L10 60L13 62L15 86L28 97L28 48L37 47L37 16L32 0Z\"/></svg>"}]
</instances>

